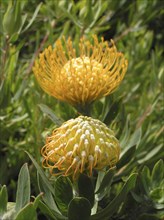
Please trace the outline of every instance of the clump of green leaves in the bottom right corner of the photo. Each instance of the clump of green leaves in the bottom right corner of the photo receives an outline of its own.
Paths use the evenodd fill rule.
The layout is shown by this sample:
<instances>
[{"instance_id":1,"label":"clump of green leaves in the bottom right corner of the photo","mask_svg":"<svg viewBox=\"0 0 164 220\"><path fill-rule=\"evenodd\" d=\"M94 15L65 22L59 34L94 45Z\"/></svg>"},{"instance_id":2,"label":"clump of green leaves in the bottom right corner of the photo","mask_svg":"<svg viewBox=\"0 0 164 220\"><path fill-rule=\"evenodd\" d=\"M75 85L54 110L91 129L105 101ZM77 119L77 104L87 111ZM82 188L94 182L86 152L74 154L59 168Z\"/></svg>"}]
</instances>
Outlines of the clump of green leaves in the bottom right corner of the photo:
<instances>
[{"instance_id":1,"label":"clump of green leaves in the bottom right corner of the photo","mask_svg":"<svg viewBox=\"0 0 164 220\"><path fill-rule=\"evenodd\" d=\"M161 219L164 216L163 188L163 160L154 165L152 172L144 166L139 172L132 194L126 198L120 213L125 213L125 219L129 219L132 214L135 216L134 219ZM126 210L128 212L125 212Z\"/></svg>"}]
</instances>

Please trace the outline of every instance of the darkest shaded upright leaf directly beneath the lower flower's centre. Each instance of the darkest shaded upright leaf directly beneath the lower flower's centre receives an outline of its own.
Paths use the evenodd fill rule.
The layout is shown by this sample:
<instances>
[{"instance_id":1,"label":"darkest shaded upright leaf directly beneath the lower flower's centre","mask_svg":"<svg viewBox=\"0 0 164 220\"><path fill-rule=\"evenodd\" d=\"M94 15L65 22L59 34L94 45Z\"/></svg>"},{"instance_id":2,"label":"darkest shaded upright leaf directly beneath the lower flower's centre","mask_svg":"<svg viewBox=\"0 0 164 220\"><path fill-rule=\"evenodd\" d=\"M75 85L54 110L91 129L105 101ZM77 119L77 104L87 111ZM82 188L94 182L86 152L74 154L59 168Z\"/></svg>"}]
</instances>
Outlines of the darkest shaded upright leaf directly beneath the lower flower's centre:
<instances>
[{"instance_id":1,"label":"darkest shaded upright leaf directly beneath the lower flower's centre","mask_svg":"<svg viewBox=\"0 0 164 220\"><path fill-rule=\"evenodd\" d=\"M91 181L85 174L80 174L78 179L78 189L79 189L79 196L88 199L91 203L91 207L94 205L94 188Z\"/></svg>"}]
</instances>

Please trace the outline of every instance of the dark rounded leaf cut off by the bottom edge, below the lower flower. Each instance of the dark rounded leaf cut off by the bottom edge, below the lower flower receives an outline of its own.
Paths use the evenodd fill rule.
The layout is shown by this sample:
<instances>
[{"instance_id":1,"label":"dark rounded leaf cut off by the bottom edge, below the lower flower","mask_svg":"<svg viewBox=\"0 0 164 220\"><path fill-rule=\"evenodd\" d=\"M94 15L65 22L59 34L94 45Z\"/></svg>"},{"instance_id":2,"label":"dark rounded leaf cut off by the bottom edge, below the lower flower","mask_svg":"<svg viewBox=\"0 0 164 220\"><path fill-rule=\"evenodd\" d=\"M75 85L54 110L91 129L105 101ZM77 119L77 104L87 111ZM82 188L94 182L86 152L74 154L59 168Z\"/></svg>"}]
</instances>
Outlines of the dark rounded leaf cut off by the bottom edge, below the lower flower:
<instances>
[{"instance_id":1,"label":"dark rounded leaf cut off by the bottom edge, below the lower flower","mask_svg":"<svg viewBox=\"0 0 164 220\"><path fill-rule=\"evenodd\" d=\"M91 214L90 202L83 197L72 199L68 207L69 220L89 220Z\"/></svg>"}]
</instances>

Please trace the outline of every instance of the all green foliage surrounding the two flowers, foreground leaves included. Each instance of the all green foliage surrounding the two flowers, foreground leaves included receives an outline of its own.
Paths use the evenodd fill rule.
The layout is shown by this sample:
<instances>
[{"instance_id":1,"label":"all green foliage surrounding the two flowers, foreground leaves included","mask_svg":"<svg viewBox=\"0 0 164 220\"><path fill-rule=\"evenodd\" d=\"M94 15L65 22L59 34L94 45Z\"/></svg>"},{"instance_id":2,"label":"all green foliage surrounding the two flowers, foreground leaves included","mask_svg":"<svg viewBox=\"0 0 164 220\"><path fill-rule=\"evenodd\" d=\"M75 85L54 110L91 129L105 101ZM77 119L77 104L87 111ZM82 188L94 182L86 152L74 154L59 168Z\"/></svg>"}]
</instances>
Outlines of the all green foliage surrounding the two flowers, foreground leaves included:
<instances>
[{"instance_id":1,"label":"all green foliage surrounding the two flowers, foreground leaves included","mask_svg":"<svg viewBox=\"0 0 164 220\"><path fill-rule=\"evenodd\" d=\"M83 220L90 213L90 219L162 219L162 1L2 0L0 13L0 218L79 219L80 210ZM61 36L77 47L92 34L113 38L129 62L117 91L88 110L115 131L121 156L115 168L73 183L43 171L40 149L52 129L79 112L45 94L32 66ZM32 194L43 193L33 200L31 184Z\"/></svg>"}]
</instances>

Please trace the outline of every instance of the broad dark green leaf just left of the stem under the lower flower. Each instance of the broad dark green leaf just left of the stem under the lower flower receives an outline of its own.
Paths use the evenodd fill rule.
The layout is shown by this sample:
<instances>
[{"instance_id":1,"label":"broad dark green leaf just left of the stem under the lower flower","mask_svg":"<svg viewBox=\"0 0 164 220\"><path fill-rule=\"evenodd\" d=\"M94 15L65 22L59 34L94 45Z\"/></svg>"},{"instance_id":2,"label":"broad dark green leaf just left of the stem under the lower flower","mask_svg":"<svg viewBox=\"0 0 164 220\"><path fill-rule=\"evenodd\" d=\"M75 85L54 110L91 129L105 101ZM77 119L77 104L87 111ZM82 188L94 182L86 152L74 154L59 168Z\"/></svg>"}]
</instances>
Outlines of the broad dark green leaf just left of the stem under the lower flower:
<instances>
[{"instance_id":1,"label":"broad dark green leaf just left of the stem under the lower flower","mask_svg":"<svg viewBox=\"0 0 164 220\"><path fill-rule=\"evenodd\" d=\"M55 181L55 200L60 211L67 216L68 205L73 198L71 181L64 176L59 176Z\"/></svg>"}]
</instances>

